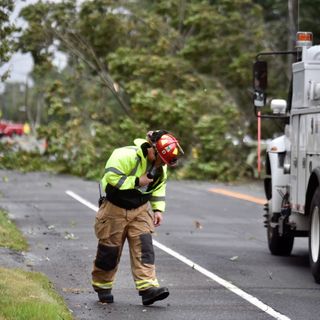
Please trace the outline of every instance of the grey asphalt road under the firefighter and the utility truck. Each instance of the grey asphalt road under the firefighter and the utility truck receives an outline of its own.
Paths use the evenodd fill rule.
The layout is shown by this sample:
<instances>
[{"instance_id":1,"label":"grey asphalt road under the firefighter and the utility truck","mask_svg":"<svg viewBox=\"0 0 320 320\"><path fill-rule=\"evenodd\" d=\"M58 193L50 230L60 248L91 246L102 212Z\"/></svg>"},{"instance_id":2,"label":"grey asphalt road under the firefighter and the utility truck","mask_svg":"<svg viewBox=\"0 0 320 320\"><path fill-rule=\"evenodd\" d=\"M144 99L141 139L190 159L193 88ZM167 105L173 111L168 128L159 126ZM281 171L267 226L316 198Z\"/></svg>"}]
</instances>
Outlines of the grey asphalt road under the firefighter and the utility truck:
<instances>
[{"instance_id":1,"label":"grey asphalt road under the firefighter and the utility truck","mask_svg":"<svg viewBox=\"0 0 320 320\"><path fill-rule=\"evenodd\" d=\"M170 181L165 221L154 235L158 280L170 296L151 307L134 289L127 248L115 303L97 302L90 285L96 182L0 171L0 207L30 244L22 256L2 249L0 265L44 272L77 320L318 320L320 286L309 271L307 240L297 239L290 257L270 255L262 205L209 191L217 187L263 198L257 184Z\"/></svg>"}]
</instances>

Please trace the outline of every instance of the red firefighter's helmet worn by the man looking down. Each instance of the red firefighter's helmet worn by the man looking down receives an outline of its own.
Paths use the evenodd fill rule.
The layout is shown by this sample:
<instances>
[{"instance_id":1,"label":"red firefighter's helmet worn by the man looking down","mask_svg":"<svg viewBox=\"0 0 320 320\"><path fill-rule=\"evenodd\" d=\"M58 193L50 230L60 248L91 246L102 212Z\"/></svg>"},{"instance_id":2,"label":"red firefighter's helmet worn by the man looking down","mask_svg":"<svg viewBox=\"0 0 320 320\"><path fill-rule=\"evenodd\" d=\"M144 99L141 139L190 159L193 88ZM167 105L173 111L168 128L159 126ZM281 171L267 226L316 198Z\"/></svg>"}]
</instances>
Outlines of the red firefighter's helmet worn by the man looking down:
<instances>
[{"instance_id":1,"label":"red firefighter's helmet worn by the man looking down","mask_svg":"<svg viewBox=\"0 0 320 320\"><path fill-rule=\"evenodd\" d=\"M179 154L183 154L178 140L170 133L161 135L154 146L162 161L172 167L177 164Z\"/></svg>"}]
</instances>

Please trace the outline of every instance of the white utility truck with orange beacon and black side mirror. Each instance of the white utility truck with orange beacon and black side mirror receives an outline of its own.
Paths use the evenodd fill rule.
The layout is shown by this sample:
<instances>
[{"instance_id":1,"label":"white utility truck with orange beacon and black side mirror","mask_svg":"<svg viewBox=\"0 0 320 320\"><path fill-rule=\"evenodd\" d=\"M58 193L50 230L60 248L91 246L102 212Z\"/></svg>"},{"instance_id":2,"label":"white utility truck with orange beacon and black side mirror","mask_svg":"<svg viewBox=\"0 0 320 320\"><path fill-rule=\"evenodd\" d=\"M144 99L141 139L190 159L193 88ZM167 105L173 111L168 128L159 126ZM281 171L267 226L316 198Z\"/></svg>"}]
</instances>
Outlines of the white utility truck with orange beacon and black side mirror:
<instances>
[{"instance_id":1,"label":"white utility truck with orange beacon and black side mirror","mask_svg":"<svg viewBox=\"0 0 320 320\"><path fill-rule=\"evenodd\" d=\"M308 237L312 275L320 283L320 45L311 32L297 33L297 50L265 52L256 57L254 106L257 116L286 118L284 134L267 147L265 226L274 255L290 255L295 237ZM267 62L262 57L293 54L287 100L266 104Z\"/></svg>"}]
</instances>

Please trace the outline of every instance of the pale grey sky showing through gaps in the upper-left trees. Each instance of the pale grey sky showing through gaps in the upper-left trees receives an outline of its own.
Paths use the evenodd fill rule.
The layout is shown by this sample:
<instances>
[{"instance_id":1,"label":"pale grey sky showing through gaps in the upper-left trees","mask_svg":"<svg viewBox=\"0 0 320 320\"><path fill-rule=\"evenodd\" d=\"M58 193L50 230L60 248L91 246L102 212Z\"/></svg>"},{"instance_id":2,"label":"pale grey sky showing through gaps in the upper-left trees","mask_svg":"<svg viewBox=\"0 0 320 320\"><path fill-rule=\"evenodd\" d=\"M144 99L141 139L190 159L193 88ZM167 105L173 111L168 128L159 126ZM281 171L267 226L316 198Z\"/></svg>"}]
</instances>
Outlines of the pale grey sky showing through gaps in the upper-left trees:
<instances>
[{"instance_id":1,"label":"pale grey sky showing through gaps in the upper-left trees","mask_svg":"<svg viewBox=\"0 0 320 320\"><path fill-rule=\"evenodd\" d=\"M51 0L52 1L52 0ZM56 0L59 1L59 0ZM20 10L30 4L36 3L38 0L16 0L15 10L11 16L11 21L19 27L25 26L25 21L18 19ZM54 2L54 1L52 1ZM63 68L66 63L66 58L61 53L55 54L54 64L58 68ZM0 68L0 75L6 70L10 70L10 78L6 82L23 82L25 83L28 79L28 74L33 68L33 62L30 54L16 53L12 56L10 61ZM0 92L3 90L3 84L0 83Z\"/></svg>"}]
</instances>

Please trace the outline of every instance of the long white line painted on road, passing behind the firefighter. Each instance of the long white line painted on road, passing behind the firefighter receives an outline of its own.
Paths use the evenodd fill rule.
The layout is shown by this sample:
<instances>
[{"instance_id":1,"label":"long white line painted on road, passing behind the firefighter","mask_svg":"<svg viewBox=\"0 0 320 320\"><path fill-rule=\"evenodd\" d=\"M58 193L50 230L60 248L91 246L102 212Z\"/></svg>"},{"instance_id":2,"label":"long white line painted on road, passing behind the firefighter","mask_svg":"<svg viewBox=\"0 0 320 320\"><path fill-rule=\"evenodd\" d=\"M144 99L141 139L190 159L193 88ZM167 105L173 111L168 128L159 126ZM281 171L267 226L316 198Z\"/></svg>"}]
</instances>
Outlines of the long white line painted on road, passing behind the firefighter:
<instances>
[{"instance_id":1,"label":"long white line painted on road, passing behind the firefighter","mask_svg":"<svg viewBox=\"0 0 320 320\"><path fill-rule=\"evenodd\" d=\"M79 195L77 195L76 193L74 193L74 192L72 192L70 190L67 190L66 194L69 195L70 197L74 198L75 200L81 202L82 204L84 204L85 206L89 207L90 209L92 209L95 212L97 212L98 209L99 209L97 206L93 205L89 201L83 199L82 197L80 197ZM231 292L235 293L236 295L238 295L242 299L244 299L244 300L248 301L249 303L253 304L255 307L257 307L260 310L266 312L267 314L269 314L270 316L274 317L275 319L278 319L278 320L290 320L290 318L288 318L287 316L275 311L274 309L272 309L271 307L269 307L268 305L266 305L265 303L263 303L262 301L260 301L256 297L252 296L251 294L246 293L245 291L243 291L242 289L236 287L232 283L222 279L221 277L217 276L216 274L214 274L214 273L210 272L209 270L201 267L200 265L194 263L193 261L191 261L188 258L184 257L180 253L178 253L178 252L166 247L165 245L161 244L160 242L158 242L156 240L153 240L153 244L157 248L159 248L159 249L163 250L164 252L168 253L169 255L175 257L176 259L178 259L179 261L185 263L186 265L188 265L192 269L197 270L198 272L202 273L203 275L205 275L206 277L210 278L211 280L217 282L221 286L223 286L226 289L230 290Z\"/></svg>"}]
</instances>

